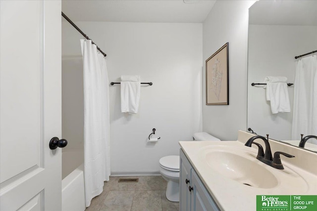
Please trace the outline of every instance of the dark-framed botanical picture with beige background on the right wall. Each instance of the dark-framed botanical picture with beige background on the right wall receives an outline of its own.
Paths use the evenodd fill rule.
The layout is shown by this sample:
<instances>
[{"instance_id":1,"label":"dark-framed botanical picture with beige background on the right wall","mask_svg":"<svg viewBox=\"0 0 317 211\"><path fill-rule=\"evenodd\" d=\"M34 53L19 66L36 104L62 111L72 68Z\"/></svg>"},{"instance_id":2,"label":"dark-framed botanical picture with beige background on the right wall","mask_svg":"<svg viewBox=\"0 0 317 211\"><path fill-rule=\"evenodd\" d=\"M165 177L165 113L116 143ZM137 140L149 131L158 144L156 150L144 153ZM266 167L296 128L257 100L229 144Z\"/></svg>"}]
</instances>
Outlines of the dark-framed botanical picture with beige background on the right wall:
<instances>
[{"instance_id":1,"label":"dark-framed botanical picture with beige background on the right wall","mask_svg":"<svg viewBox=\"0 0 317 211\"><path fill-rule=\"evenodd\" d=\"M206 105L229 105L229 42L206 60Z\"/></svg>"}]
</instances>

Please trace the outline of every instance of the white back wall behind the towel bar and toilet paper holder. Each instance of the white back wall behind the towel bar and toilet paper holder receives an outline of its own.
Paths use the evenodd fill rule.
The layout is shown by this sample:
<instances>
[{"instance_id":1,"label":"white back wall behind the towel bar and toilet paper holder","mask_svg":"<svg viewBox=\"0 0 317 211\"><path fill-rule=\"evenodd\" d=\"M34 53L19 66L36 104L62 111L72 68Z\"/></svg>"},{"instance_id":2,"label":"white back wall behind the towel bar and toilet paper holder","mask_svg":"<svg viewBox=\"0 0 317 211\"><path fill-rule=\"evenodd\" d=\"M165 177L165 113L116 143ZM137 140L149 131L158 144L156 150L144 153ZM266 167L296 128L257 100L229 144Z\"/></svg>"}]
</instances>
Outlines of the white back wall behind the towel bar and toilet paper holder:
<instances>
[{"instance_id":1,"label":"white back wall behind the towel bar and toilet paper holder","mask_svg":"<svg viewBox=\"0 0 317 211\"><path fill-rule=\"evenodd\" d=\"M109 85L111 172L158 173L159 158L178 155L178 141L202 130L202 24L76 24L106 52L110 82L121 75L153 82L141 87L137 115L120 112L120 85ZM81 55L81 35L62 26L63 55ZM161 138L149 144L154 127Z\"/></svg>"}]
</instances>

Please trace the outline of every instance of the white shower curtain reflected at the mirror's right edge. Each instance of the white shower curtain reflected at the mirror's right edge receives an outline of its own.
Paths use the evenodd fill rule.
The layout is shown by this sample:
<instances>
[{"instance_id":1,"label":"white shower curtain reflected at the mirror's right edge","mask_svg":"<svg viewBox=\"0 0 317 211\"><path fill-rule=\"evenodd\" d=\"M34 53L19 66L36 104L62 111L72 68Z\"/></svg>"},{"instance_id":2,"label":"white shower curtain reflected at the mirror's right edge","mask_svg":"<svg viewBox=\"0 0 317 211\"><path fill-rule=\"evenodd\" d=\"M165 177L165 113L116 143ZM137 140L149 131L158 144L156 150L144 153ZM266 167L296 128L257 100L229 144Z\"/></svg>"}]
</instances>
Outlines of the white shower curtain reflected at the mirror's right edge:
<instances>
[{"instance_id":1,"label":"white shower curtain reflected at the mirror's right edge","mask_svg":"<svg viewBox=\"0 0 317 211\"><path fill-rule=\"evenodd\" d=\"M292 140L317 135L317 56L301 58L296 67ZM316 139L310 139L317 144Z\"/></svg>"}]
</instances>

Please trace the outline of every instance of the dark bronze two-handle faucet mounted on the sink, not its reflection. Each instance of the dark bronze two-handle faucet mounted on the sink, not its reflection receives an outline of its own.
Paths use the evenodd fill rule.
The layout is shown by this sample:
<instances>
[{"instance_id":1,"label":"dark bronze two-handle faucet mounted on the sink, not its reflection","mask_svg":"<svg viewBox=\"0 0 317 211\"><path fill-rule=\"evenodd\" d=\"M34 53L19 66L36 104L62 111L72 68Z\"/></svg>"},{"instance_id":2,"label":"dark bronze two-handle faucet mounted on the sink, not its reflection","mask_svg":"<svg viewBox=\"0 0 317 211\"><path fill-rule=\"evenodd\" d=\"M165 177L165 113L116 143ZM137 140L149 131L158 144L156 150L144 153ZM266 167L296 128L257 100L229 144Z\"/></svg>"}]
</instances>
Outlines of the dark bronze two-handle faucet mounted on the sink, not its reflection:
<instances>
[{"instance_id":1,"label":"dark bronze two-handle faucet mounted on the sink, not its reflection","mask_svg":"<svg viewBox=\"0 0 317 211\"><path fill-rule=\"evenodd\" d=\"M245 146L251 147L252 144L257 145L259 147L258 155L257 155L257 159L259 161L261 161L262 163L267 164L268 166L271 166L275 169L284 169L284 167L281 163L280 155L284 155L288 158L293 158L295 156L289 155L289 154L284 153L284 152L275 152L274 158L272 158L271 147L270 147L269 142L268 142L268 134L266 134L266 136L267 136L266 138L261 136L261 135L253 136L246 142ZM264 153L264 150L263 150L263 147L261 146L261 144L253 142L254 140L256 140L258 138L260 138L264 141L265 153Z\"/></svg>"}]
</instances>

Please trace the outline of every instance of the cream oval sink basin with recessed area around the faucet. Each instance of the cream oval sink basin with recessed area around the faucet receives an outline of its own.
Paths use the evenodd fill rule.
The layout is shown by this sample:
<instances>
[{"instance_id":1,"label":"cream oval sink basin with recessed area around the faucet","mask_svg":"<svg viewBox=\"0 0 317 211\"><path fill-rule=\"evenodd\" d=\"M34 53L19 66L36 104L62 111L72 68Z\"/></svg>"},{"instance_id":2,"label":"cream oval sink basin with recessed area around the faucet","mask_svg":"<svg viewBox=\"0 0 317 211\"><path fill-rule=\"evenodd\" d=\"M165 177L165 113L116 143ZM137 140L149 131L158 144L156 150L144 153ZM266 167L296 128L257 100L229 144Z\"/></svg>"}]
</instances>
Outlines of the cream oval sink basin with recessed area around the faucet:
<instances>
[{"instance_id":1,"label":"cream oval sink basin with recessed area around the faucet","mask_svg":"<svg viewBox=\"0 0 317 211\"><path fill-rule=\"evenodd\" d=\"M202 147L199 157L207 168L230 180L253 188L271 189L285 182L281 176L288 179L290 189L307 190L303 177L284 164L284 170L274 169L256 159L257 153L251 152L247 146L233 147L213 145ZM285 180L286 181L286 180ZM288 185L288 184L284 184ZM289 186L289 185L288 185Z\"/></svg>"}]
</instances>

